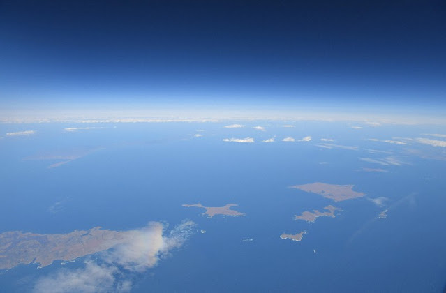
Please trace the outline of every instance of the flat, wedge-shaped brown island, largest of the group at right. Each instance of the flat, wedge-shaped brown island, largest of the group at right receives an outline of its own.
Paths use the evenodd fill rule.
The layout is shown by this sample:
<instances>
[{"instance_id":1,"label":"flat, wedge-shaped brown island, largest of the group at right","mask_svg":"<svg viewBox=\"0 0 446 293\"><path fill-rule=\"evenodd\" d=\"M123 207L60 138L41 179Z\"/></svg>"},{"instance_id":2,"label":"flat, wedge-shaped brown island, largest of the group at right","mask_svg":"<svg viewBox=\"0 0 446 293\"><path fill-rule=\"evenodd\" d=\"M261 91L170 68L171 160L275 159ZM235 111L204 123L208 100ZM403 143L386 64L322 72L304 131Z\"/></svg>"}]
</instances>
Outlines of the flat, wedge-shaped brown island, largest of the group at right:
<instances>
[{"instance_id":1,"label":"flat, wedge-shaped brown island, largest of the group at right","mask_svg":"<svg viewBox=\"0 0 446 293\"><path fill-rule=\"evenodd\" d=\"M311 183L304 185L295 185L290 186L290 188L297 188L300 190L304 190L307 193L315 193L318 195L322 195L325 198L329 198L330 200L334 200L335 202L341 202L343 200L351 200L356 197L363 197L366 195L365 193L358 193L357 191L353 191L352 185L334 185L327 183Z\"/></svg>"}]
</instances>

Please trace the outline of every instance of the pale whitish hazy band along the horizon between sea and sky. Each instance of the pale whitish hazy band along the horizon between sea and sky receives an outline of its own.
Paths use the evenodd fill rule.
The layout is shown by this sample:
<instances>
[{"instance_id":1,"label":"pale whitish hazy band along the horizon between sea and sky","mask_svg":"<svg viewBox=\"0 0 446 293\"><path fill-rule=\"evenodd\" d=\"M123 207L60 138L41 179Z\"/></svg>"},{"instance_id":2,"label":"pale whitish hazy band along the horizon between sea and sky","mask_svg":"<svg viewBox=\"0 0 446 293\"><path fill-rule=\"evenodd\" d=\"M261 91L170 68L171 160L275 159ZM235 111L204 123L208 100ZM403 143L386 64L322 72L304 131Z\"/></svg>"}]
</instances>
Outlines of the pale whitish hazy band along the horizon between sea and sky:
<instances>
[{"instance_id":1,"label":"pale whitish hazy band along the horizon between sea and sky","mask_svg":"<svg viewBox=\"0 0 446 293\"><path fill-rule=\"evenodd\" d=\"M436 113L376 113L355 110L17 110L0 112L0 123L166 123L224 121L327 121L380 124L446 124Z\"/></svg>"}]
</instances>

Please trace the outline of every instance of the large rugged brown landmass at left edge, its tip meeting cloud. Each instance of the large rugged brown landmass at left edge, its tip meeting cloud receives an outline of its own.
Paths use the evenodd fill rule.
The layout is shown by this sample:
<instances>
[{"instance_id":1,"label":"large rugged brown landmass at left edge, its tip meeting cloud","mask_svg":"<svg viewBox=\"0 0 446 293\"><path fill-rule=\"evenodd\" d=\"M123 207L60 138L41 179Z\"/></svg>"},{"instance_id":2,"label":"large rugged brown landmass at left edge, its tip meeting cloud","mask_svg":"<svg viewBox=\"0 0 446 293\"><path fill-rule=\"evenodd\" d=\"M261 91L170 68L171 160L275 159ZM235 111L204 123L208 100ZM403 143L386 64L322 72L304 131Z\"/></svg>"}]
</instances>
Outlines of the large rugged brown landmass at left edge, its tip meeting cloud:
<instances>
[{"instance_id":1,"label":"large rugged brown landmass at left edge, its tip meeting cloud","mask_svg":"<svg viewBox=\"0 0 446 293\"><path fill-rule=\"evenodd\" d=\"M130 236L128 233L101 227L68 234L4 232L0 234L0 269L31 263L43 267L55 260L75 260L123 243Z\"/></svg>"}]
</instances>

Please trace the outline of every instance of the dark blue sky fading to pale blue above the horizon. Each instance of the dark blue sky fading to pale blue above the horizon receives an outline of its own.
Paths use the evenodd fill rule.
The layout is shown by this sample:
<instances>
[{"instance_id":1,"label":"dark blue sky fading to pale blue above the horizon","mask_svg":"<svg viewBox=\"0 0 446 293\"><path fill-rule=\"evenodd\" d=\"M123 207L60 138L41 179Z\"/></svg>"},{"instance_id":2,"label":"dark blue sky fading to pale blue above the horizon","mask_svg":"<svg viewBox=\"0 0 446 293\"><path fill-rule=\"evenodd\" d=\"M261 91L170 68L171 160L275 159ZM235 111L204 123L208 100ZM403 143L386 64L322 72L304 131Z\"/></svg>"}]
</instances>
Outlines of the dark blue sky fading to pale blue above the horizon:
<instances>
[{"instance_id":1,"label":"dark blue sky fading to pale blue above the horizon","mask_svg":"<svg viewBox=\"0 0 446 293\"><path fill-rule=\"evenodd\" d=\"M10 0L0 44L3 107L445 105L445 1Z\"/></svg>"}]
</instances>

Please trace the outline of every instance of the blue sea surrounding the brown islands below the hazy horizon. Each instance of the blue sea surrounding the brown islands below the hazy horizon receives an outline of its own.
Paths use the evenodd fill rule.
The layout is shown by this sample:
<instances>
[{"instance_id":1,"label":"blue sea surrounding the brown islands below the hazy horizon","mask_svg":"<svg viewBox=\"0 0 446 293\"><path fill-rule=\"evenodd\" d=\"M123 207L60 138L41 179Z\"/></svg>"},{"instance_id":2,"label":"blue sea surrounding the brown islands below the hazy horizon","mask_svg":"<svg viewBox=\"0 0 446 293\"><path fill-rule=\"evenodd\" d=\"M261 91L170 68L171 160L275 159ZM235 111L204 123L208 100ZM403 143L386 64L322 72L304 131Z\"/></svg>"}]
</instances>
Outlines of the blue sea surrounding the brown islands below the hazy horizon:
<instances>
[{"instance_id":1,"label":"blue sea surrounding the brown islands below the hazy horizon","mask_svg":"<svg viewBox=\"0 0 446 293\"><path fill-rule=\"evenodd\" d=\"M446 155L441 147L415 139L433 131L445 134L444 129L241 123L246 127L3 124L0 232L61 234L95 226L129 230L149 221L168 223L169 230L186 219L197 223L184 246L145 273L129 276L134 292L442 292ZM281 127L290 123L296 127ZM266 131L252 128L257 125ZM64 131L87 126L96 128ZM36 134L6 136L22 130ZM203 136L194 137L197 133ZM311 142L281 142L307 135ZM222 141L230 137L253 137L255 143ZM276 142L262 142L270 137ZM406 144L369 140L398 140L392 137L405 137L399 140ZM48 168L60 161L56 155L79 158ZM389 164L389 157L398 163ZM364 167L387 172L364 172ZM353 184L366 197L334 203L288 188L318 181ZM377 197L387 197L385 206L368 200ZM235 209L246 216L206 218L204 209L181 206L197 202L239 204ZM343 211L315 223L293 220L295 214L322 211L329 204ZM384 209L387 218L378 219ZM307 232L302 241L279 238L302 230ZM77 261L64 268L82 265ZM38 278L60 267L54 262L43 269L31 264L2 271L0 291L30 291Z\"/></svg>"}]
</instances>

